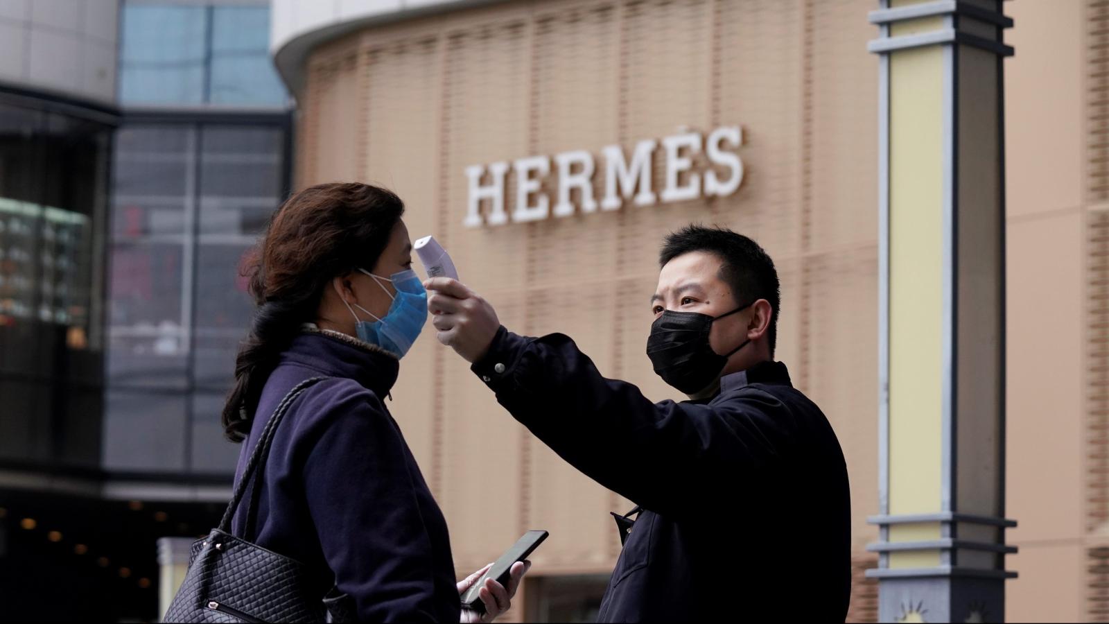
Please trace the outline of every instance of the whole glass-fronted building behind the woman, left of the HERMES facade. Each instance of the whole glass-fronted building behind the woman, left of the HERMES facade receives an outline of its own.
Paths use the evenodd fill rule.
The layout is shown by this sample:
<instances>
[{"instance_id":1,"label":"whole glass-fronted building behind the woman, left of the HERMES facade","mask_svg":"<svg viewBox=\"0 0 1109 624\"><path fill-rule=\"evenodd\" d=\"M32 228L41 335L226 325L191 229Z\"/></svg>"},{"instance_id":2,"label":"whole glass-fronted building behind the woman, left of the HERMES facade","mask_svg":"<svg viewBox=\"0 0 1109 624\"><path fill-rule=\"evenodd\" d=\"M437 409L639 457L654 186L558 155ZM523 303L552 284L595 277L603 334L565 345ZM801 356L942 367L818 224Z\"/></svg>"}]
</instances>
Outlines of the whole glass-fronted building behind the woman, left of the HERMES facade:
<instances>
[{"instance_id":1,"label":"whole glass-fronted building behind the woman, left of the HERMES facade","mask_svg":"<svg viewBox=\"0 0 1109 624\"><path fill-rule=\"evenodd\" d=\"M0 1L12 620L157 618L156 540L223 512L240 258L289 177L268 38L264 1Z\"/></svg>"}]
</instances>

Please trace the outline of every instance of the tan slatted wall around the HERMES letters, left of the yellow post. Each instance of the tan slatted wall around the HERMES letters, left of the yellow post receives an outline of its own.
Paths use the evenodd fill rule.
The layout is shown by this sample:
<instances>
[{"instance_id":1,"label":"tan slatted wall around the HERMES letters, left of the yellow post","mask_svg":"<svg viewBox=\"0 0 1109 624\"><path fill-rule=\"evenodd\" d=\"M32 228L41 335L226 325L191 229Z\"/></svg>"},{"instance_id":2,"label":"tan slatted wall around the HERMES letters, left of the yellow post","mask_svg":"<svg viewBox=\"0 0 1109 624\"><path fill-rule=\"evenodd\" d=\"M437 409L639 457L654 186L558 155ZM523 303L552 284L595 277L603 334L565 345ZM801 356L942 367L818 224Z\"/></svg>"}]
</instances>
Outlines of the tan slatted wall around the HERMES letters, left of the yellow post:
<instances>
[{"instance_id":1,"label":"tan slatted wall around the HERMES letters, left of the yellow post","mask_svg":"<svg viewBox=\"0 0 1109 624\"><path fill-rule=\"evenodd\" d=\"M435 233L506 325L564 332L603 373L654 400L676 397L643 354L662 236L704 222L759 240L783 284L777 356L824 409L847 456L857 622L876 615L875 585L863 576L874 564L865 545L876 539L865 519L877 512L877 67L865 47L873 8L505 3L334 41L312 54L298 94L299 185L356 179L393 188L413 235ZM591 151L600 165L608 144L630 149L681 127L725 124L745 133L745 179L734 195L462 227L467 165L570 149ZM510 182L509 211L513 194ZM537 443L434 340L417 342L403 369L390 409L444 507L460 571L529 527L551 531L537 573L611 571L619 542L608 512L630 503ZM813 514L820 522L820 510Z\"/></svg>"}]
</instances>

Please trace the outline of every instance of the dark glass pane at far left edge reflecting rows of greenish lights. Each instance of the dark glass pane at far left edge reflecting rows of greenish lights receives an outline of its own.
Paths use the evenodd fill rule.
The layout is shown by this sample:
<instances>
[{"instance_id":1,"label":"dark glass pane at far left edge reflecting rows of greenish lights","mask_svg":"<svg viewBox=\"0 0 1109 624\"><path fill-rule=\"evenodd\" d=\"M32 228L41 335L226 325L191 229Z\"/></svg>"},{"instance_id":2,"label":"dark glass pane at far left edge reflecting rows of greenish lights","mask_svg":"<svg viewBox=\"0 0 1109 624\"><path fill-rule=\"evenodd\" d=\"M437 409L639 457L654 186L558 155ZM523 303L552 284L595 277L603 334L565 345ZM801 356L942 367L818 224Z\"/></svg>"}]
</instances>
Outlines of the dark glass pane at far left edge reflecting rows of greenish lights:
<instances>
[{"instance_id":1,"label":"dark glass pane at far left edge reflecting rows of greenish lights","mask_svg":"<svg viewBox=\"0 0 1109 624\"><path fill-rule=\"evenodd\" d=\"M93 249L109 132L0 102L0 329L58 325L69 349L100 349ZM0 350L13 342L0 333Z\"/></svg>"}]
</instances>

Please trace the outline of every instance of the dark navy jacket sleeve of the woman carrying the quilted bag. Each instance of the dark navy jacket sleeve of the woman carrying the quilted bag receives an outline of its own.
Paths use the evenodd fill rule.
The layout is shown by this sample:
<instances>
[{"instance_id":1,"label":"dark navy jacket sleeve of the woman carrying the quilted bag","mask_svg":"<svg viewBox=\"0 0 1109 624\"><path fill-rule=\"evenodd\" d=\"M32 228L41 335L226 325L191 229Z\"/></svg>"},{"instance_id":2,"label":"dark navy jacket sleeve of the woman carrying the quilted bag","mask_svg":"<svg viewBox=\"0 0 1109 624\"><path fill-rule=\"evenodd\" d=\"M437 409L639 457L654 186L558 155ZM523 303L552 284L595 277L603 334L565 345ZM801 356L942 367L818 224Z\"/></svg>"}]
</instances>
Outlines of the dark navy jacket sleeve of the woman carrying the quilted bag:
<instances>
[{"instance_id":1,"label":"dark navy jacket sleeve of the woman carrying the quilted bag","mask_svg":"<svg viewBox=\"0 0 1109 624\"><path fill-rule=\"evenodd\" d=\"M359 622L433 622L442 605L400 431L372 392L319 385L304 405L313 417L302 474L338 588L355 600Z\"/></svg>"}]
</instances>

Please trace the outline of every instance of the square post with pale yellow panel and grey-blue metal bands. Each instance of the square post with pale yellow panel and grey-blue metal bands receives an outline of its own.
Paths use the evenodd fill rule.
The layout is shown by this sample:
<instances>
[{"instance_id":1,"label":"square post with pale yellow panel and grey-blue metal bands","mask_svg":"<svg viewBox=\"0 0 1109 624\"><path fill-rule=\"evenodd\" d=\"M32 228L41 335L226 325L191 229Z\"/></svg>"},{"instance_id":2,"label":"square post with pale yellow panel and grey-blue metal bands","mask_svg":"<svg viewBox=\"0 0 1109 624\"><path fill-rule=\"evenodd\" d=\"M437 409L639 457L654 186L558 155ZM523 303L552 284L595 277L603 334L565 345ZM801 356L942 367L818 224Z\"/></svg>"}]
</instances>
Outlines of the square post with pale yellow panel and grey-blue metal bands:
<instances>
[{"instance_id":1,"label":"square post with pale yellow panel and grey-blue metal bands","mask_svg":"<svg viewBox=\"0 0 1109 624\"><path fill-rule=\"evenodd\" d=\"M882 622L1005 617L1001 0L881 0Z\"/></svg>"}]
</instances>

